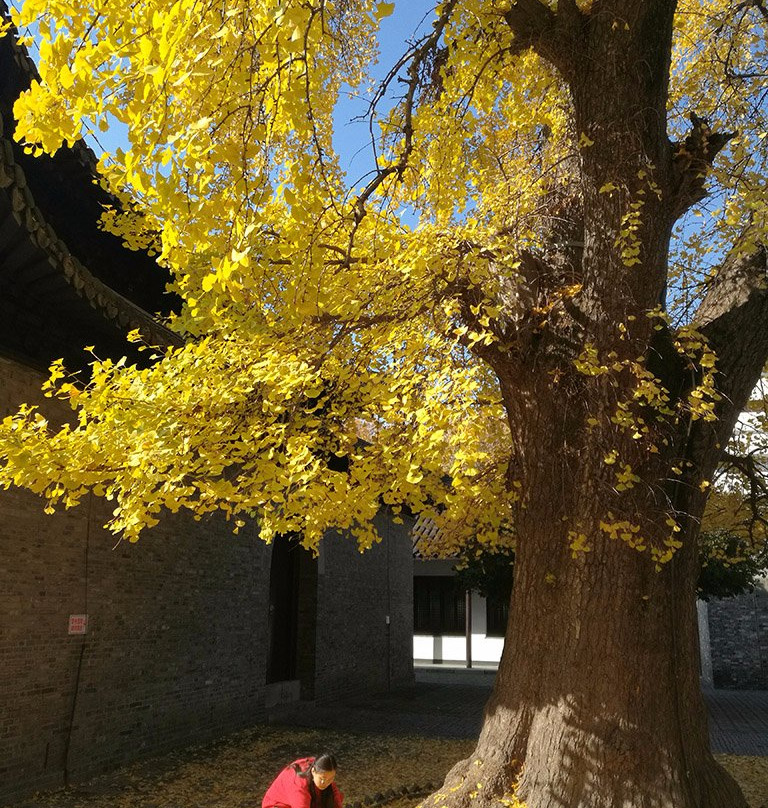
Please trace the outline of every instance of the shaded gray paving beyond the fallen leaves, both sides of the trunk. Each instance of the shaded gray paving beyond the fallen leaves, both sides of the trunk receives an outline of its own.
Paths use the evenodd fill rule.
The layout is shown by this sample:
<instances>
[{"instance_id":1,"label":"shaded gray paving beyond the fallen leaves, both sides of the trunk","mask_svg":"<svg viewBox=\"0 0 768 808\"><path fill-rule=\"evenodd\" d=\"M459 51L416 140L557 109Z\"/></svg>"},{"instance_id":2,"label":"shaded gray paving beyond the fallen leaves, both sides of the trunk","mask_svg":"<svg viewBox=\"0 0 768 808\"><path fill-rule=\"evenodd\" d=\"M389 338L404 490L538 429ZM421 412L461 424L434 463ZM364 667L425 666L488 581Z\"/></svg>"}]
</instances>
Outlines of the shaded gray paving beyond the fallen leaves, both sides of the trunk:
<instances>
[{"instance_id":1,"label":"shaded gray paving beyond the fallen leaves, both sides of the trunk","mask_svg":"<svg viewBox=\"0 0 768 808\"><path fill-rule=\"evenodd\" d=\"M493 671L417 670L411 687L366 698L274 708L272 724L471 738L480 729ZM768 692L705 690L712 750L718 754L768 756Z\"/></svg>"}]
</instances>

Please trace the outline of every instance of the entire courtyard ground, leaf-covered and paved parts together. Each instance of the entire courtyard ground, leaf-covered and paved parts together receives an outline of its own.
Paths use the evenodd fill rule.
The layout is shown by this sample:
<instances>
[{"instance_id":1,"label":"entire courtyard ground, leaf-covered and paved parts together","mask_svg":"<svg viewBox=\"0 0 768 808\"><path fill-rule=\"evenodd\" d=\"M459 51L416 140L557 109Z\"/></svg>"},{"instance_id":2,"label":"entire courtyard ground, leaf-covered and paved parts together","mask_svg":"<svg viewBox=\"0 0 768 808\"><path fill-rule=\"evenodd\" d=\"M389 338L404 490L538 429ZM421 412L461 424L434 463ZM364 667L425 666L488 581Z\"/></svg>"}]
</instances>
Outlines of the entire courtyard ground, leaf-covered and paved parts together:
<instances>
[{"instance_id":1,"label":"entire courtyard ground, leaf-covered and paved parts together","mask_svg":"<svg viewBox=\"0 0 768 808\"><path fill-rule=\"evenodd\" d=\"M377 696L299 702L269 723L151 758L14 808L260 808L282 766L332 751L345 808L415 808L471 754L494 671L418 670ZM705 692L712 748L751 808L768 808L768 693ZM403 792L406 793L403 793Z\"/></svg>"}]
</instances>

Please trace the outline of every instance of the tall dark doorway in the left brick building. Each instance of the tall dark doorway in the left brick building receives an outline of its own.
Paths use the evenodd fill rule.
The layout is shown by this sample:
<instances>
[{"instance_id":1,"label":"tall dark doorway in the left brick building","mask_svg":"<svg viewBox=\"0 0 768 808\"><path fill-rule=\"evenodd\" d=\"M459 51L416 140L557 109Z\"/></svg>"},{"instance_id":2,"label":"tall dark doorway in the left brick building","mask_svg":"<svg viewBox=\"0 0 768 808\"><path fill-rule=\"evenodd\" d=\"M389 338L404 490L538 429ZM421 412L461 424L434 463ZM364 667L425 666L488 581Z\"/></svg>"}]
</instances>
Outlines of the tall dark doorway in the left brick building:
<instances>
[{"instance_id":1,"label":"tall dark doorway in the left brick building","mask_svg":"<svg viewBox=\"0 0 768 808\"><path fill-rule=\"evenodd\" d=\"M278 536L272 543L267 684L296 678L301 554L301 545L293 536Z\"/></svg>"}]
</instances>

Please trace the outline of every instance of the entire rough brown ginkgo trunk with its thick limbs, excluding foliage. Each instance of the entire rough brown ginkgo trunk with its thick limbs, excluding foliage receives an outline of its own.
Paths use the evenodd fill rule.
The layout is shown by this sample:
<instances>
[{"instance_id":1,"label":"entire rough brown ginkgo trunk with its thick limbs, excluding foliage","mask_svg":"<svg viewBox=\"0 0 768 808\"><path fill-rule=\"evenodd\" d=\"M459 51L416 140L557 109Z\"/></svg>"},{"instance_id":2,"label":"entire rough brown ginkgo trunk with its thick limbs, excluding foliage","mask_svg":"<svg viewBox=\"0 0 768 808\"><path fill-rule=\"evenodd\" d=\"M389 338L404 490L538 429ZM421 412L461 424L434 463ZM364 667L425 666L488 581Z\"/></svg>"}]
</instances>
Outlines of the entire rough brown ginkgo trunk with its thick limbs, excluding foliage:
<instances>
[{"instance_id":1,"label":"entire rough brown ginkgo trunk with its thick limbs, excluding foliage","mask_svg":"<svg viewBox=\"0 0 768 808\"><path fill-rule=\"evenodd\" d=\"M510 477L524 481L515 587L477 748L427 800L430 808L746 806L709 750L696 541L706 481L768 359L765 251L735 252L696 318L717 354L716 422L649 413L649 435L633 439L611 420L617 402L632 396L632 375L574 370L591 344L618 362L643 357L673 401L696 383L670 334L646 315L664 294L673 224L701 198L702 174L728 135L692 116L685 144L667 137L674 8L669 0L595 0L582 13L560 0L554 12L518 0L506 15L518 43L570 86L575 125L586 136L576 189L583 236L560 261L581 292L546 326L516 314L504 348L482 349L506 405ZM607 183L616 190L601 192ZM640 262L627 266L617 234L638 200ZM539 292L546 259L532 256L522 268L531 283L538 273ZM557 276L552 266L549 276ZM611 448L631 461L638 482L607 503ZM649 546L663 544L673 513L682 547L657 570L647 550L600 528L608 510L636 525ZM575 533L586 551L573 551Z\"/></svg>"}]
</instances>

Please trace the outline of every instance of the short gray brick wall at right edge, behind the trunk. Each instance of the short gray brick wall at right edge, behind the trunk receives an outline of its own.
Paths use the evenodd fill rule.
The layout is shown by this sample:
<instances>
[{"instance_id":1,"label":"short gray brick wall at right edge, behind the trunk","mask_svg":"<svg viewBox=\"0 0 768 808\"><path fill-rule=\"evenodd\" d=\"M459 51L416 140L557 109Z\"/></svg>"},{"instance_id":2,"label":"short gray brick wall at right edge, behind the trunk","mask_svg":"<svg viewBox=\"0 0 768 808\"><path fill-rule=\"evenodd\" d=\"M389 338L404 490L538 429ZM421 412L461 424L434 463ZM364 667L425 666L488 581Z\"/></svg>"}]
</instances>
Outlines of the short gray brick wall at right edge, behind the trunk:
<instances>
[{"instance_id":1,"label":"short gray brick wall at right edge, behind the trunk","mask_svg":"<svg viewBox=\"0 0 768 808\"><path fill-rule=\"evenodd\" d=\"M768 690L768 579L707 608L715 687Z\"/></svg>"}]
</instances>

